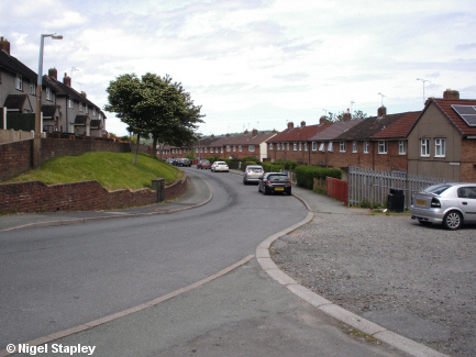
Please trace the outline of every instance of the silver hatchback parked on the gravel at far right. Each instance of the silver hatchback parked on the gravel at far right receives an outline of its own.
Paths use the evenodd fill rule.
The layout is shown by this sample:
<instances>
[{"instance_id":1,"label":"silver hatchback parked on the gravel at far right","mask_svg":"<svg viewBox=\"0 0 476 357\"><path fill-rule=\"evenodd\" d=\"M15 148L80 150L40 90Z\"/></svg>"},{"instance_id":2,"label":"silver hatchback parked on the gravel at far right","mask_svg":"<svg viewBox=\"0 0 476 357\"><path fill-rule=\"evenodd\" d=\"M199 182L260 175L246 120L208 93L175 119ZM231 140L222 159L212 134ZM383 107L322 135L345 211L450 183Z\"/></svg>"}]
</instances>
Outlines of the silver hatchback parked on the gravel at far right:
<instances>
[{"instance_id":1,"label":"silver hatchback parked on the gravel at far right","mask_svg":"<svg viewBox=\"0 0 476 357\"><path fill-rule=\"evenodd\" d=\"M413 194L410 212L421 224L442 223L447 230L476 223L476 183L430 186Z\"/></svg>"}]
</instances>

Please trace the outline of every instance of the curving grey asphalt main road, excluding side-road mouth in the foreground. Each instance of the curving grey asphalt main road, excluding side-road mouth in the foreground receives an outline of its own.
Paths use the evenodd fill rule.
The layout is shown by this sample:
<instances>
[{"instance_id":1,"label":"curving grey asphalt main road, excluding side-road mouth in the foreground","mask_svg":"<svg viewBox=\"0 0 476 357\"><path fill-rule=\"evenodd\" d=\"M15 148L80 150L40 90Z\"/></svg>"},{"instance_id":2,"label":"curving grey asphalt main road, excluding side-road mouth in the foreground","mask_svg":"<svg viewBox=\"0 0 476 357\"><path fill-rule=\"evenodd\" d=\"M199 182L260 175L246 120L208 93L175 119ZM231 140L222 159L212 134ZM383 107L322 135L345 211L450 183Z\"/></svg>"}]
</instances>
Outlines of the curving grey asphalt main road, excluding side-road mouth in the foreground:
<instances>
[{"instance_id":1,"label":"curving grey asphalt main road, excluding side-road mouth in the foreground","mask_svg":"<svg viewBox=\"0 0 476 357\"><path fill-rule=\"evenodd\" d=\"M0 349L193 283L306 216L298 200L264 201L236 175L188 172L208 181L209 204L177 214L2 232Z\"/></svg>"}]
</instances>

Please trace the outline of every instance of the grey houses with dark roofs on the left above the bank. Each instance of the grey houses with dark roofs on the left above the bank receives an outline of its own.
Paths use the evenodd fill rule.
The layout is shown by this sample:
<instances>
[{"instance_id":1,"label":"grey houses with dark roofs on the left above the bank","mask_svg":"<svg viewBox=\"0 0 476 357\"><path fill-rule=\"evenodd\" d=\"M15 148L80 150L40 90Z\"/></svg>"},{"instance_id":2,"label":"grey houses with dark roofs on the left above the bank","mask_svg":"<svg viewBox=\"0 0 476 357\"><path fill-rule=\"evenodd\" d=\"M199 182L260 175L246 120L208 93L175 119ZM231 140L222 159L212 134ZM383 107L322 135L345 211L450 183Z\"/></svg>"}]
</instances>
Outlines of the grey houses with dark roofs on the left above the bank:
<instances>
[{"instance_id":1,"label":"grey houses with dark roofs on the left above the bank","mask_svg":"<svg viewBox=\"0 0 476 357\"><path fill-rule=\"evenodd\" d=\"M41 75L41 74L40 74ZM0 129L16 129L23 119L36 112L37 74L10 54L10 43L0 37ZM101 137L106 134L106 115L71 87L71 78L58 80L51 68L43 76L43 132Z\"/></svg>"}]
</instances>

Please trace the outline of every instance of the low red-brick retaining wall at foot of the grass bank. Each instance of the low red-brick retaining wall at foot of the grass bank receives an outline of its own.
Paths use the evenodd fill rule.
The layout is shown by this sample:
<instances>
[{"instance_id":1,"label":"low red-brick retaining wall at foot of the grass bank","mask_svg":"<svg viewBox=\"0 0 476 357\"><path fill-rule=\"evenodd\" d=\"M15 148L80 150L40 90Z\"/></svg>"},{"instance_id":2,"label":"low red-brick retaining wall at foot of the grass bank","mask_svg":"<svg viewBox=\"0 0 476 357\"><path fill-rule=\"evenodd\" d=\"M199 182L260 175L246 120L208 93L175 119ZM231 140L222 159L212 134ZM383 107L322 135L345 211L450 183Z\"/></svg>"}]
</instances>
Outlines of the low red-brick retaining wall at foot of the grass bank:
<instances>
[{"instance_id":1,"label":"low red-brick retaining wall at foot of the grass bank","mask_svg":"<svg viewBox=\"0 0 476 357\"><path fill-rule=\"evenodd\" d=\"M165 188L165 199L181 196L187 177ZM0 183L0 211L58 212L97 211L157 202L157 192L150 189L107 191L98 181L44 185L38 181Z\"/></svg>"}]
</instances>

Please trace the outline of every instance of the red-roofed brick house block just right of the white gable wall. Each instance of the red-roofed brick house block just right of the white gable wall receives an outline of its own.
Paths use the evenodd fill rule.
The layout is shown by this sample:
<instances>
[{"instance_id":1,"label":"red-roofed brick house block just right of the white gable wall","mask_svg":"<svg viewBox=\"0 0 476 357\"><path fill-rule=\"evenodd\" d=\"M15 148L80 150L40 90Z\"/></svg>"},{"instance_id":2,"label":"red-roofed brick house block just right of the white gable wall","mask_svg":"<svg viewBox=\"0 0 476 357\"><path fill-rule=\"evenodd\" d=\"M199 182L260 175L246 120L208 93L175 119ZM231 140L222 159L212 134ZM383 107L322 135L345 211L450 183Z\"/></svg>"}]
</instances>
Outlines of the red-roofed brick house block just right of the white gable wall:
<instances>
[{"instance_id":1,"label":"red-roofed brick house block just right of the white gable wall","mask_svg":"<svg viewBox=\"0 0 476 357\"><path fill-rule=\"evenodd\" d=\"M307 126L302 121L301 126L295 127L295 124L289 122L285 131L268 141L268 157L272 161L294 160L305 165L311 163L310 138L330 125L332 123L325 123L323 118L318 125Z\"/></svg>"}]
</instances>

